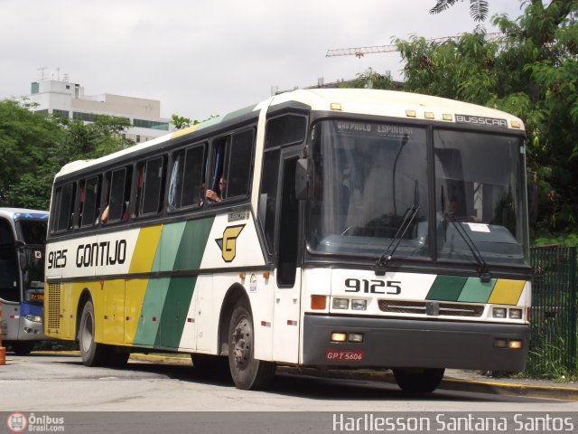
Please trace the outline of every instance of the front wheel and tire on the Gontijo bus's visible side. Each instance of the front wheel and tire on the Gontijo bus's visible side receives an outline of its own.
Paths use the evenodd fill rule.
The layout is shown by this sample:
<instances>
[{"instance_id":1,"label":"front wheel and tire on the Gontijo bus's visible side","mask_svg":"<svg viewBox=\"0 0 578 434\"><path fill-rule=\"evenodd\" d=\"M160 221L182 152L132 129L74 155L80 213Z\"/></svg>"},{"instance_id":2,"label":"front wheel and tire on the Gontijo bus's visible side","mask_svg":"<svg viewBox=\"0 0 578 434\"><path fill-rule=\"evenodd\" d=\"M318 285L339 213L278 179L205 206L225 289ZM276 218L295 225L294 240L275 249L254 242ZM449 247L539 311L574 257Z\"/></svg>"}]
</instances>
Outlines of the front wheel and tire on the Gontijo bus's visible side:
<instances>
[{"instance_id":1,"label":"front wheel and tire on the Gontijo bus's visible side","mask_svg":"<svg viewBox=\"0 0 578 434\"><path fill-rule=\"evenodd\" d=\"M247 301L240 299L228 328L228 365L238 389L264 389L275 375L275 363L257 360L255 329Z\"/></svg>"}]
</instances>

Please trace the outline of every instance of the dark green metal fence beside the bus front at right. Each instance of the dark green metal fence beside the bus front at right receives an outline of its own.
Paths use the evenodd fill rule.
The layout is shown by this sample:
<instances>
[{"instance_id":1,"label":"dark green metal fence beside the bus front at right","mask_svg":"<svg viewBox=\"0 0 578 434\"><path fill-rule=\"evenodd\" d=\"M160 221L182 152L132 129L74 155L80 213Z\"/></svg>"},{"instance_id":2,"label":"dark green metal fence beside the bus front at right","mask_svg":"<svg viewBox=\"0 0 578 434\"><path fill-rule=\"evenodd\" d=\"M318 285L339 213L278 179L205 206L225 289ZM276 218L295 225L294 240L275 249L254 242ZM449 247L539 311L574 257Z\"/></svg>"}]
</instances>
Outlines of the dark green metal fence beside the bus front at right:
<instances>
[{"instance_id":1,"label":"dark green metal fence beside the bus front at right","mask_svg":"<svg viewBox=\"0 0 578 434\"><path fill-rule=\"evenodd\" d=\"M576 248L533 247L527 373L576 373Z\"/></svg>"}]
</instances>

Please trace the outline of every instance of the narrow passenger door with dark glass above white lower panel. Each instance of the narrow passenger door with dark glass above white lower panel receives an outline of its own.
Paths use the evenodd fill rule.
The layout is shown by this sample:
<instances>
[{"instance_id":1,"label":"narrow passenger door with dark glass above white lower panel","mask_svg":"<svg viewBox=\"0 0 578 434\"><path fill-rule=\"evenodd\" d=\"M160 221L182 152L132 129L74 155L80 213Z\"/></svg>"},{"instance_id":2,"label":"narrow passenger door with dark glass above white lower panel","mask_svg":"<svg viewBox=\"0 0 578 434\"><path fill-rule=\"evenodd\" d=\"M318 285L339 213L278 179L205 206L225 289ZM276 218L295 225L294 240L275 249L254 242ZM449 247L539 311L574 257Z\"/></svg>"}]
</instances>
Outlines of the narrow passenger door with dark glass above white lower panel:
<instances>
[{"instance_id":1,"label":"narrow passenger door with dark glass above white lower panel","mask_svg":"<svg viewBox=\"0 0 578 434\"><path fill-rule=\"evenodd\" d=\"M294 152L282 153L276 222L273 356L298 363L301 274L297 273L299 201L295 197Z\"/></svg>"}]
</instances>

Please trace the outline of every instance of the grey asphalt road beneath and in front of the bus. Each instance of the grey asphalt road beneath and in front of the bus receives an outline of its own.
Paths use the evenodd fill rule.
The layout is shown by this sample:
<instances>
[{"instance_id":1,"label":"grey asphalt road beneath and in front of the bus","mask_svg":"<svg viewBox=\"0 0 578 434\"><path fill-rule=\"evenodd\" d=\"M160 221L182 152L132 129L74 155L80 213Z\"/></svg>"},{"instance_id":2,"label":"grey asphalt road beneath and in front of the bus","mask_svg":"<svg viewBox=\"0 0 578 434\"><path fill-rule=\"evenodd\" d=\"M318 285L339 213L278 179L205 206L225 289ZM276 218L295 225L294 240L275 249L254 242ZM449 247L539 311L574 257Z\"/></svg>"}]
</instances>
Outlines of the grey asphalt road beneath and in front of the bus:
<instances>
[{"instance_id":1,"label":"grey asphalt road beneath and in front of the bus","mask_svg":"<svg viewBox=\"0 0 578 434\"><path fill-rule=\"evenodd\" d=\"M446 390L415 395L387 382L290 373L277 374L267 391L240 391L227 378L197 373L188 361L131 359L125 369L109 369L85 367L78 355L7 354L6 364L0 366L0 397L0 418L15 411L28 419L34 414L33 420L62 413L68 423L64 432L110 432L111 427L116 432L155 432L147 429L160 423L165 432L334 432L334 418L350 412L439 415L455 411L492 415L506 411L510 416L565 411L574 418L576 430L564 432L578 432L578 416L573 416L578 415L578 401ZM3 432L1 419L0 427ZM194 427L199 430L191 430ZM337 430L340 427L345 425L338 419Z\"/></svg>"}]
</instances>

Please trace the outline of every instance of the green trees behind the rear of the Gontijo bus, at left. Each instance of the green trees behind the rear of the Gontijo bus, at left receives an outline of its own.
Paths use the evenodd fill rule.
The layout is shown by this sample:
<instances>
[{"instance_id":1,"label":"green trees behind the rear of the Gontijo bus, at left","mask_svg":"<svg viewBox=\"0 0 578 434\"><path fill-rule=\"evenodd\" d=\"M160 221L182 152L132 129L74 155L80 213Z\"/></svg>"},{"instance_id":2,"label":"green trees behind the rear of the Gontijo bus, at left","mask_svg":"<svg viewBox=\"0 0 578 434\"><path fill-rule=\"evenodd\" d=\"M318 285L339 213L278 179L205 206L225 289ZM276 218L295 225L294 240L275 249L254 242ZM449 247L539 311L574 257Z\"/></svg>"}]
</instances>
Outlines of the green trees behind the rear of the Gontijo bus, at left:
<instances>
[{"instance_id":1,"label":"green trees behind the rear of the Gontijo bus, at left","mask_svg":"<svg viewBox=\"0 0 578 434\"><path fill-rule=\"evenodd\" d=\"M51 184L62 165L103 156L134 143L126 118L85 124L35 114L26 104L0 100L0 206L48 209Z\"/></svg>"}]
</instances>

